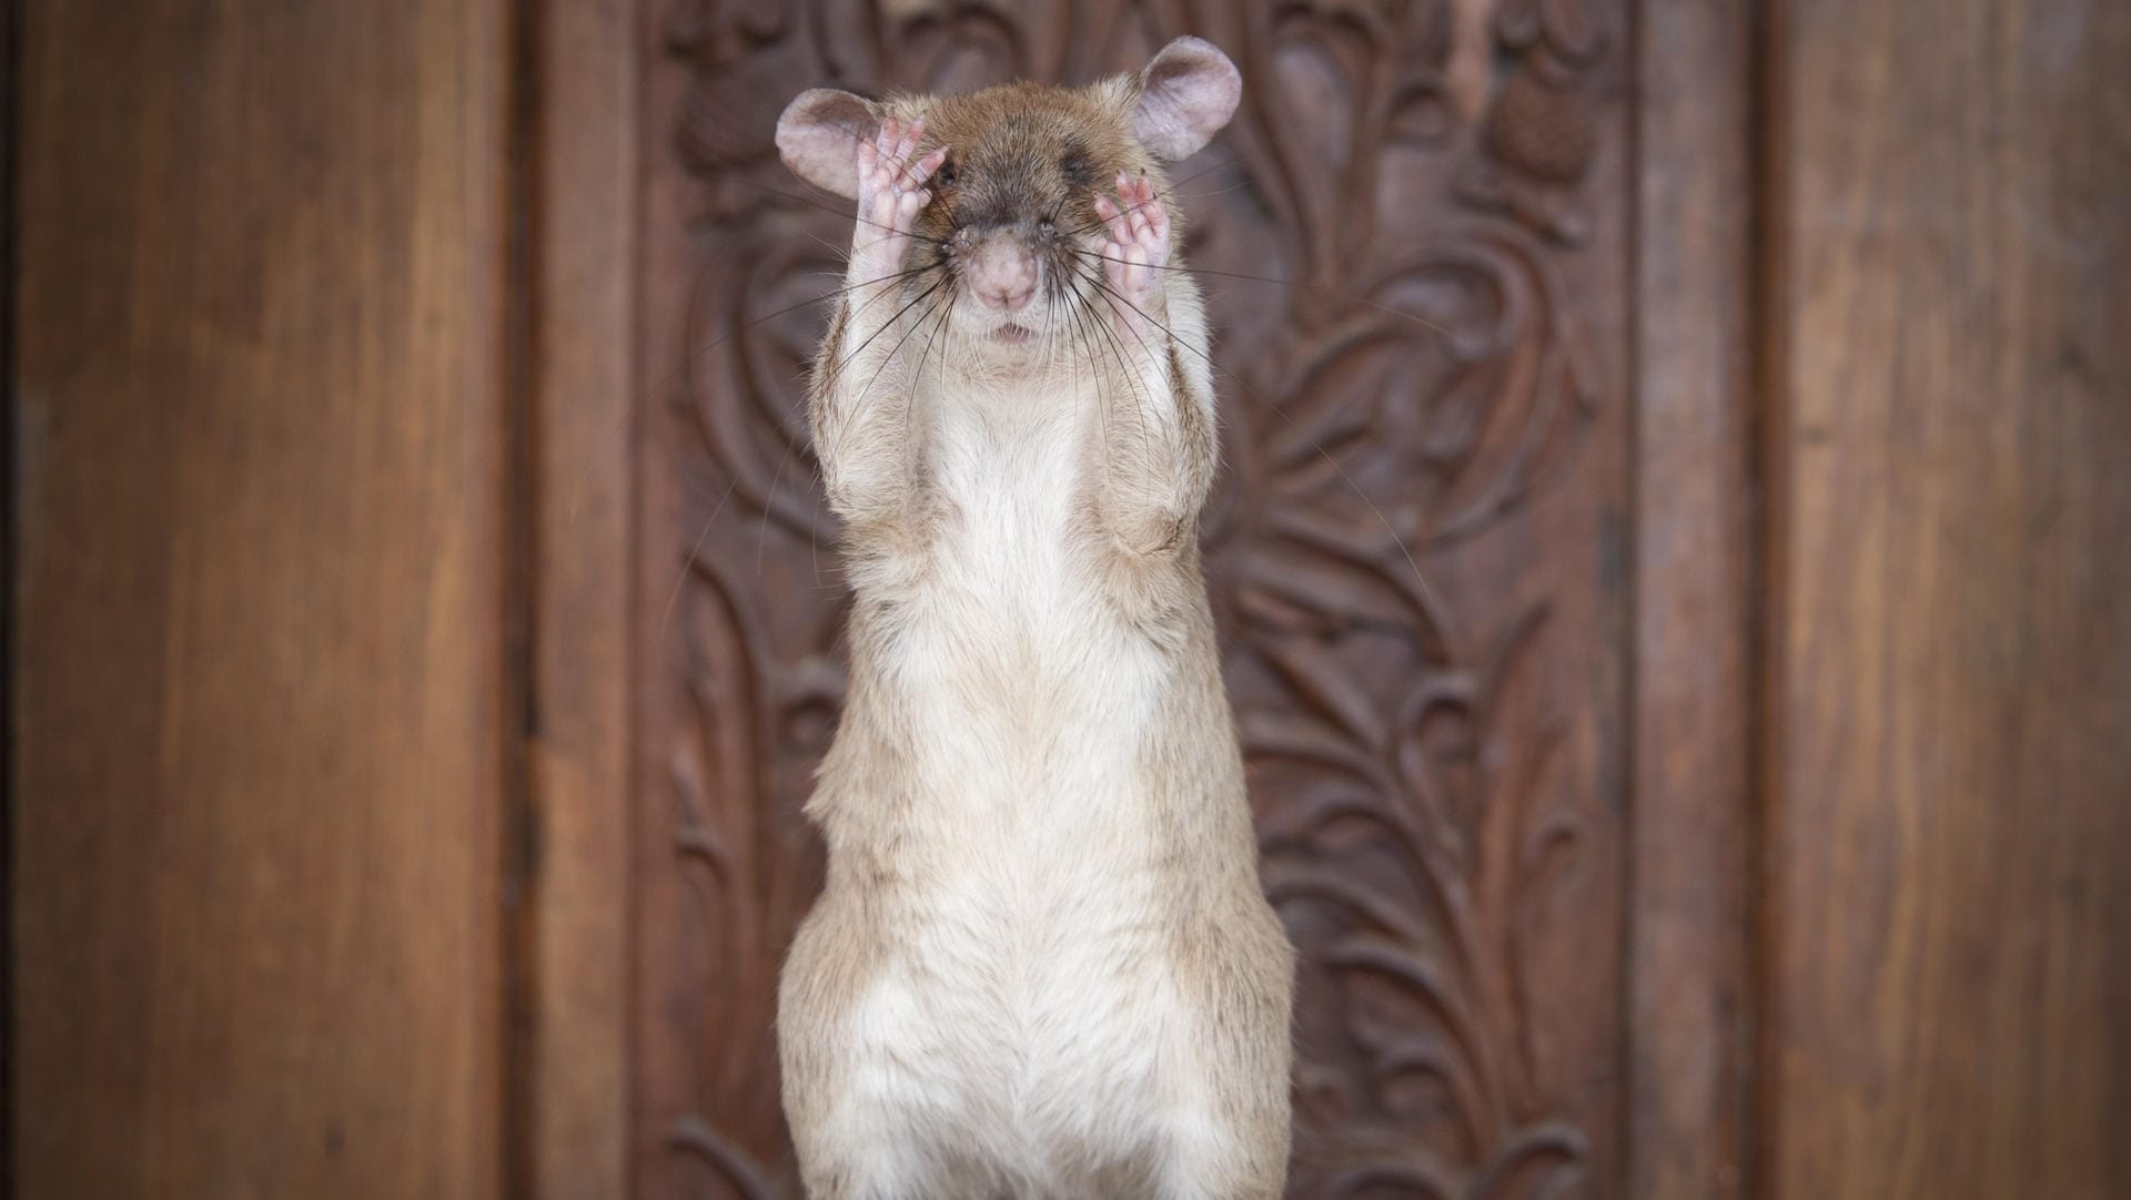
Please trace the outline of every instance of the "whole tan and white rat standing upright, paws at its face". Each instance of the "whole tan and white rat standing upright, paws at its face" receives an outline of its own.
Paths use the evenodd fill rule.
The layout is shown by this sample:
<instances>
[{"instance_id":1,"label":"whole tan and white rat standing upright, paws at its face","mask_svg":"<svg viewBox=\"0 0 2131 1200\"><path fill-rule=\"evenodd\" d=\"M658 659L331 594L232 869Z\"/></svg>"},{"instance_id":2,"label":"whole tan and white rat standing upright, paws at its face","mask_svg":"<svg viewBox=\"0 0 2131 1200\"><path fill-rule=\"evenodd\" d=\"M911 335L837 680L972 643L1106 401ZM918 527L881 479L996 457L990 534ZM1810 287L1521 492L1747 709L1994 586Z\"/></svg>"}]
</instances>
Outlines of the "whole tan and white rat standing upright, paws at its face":
<instances>
[{"instance_id":1,"label":"whole tan and white rat standing upright, paws at its face","mask_svg":"<svg viewBox=\"0 0 2131 1200\"><path fill-rule=\"evenodd\" d=\"M1257 879L1198 515L1206 317L1166 162L1242 81L872 102L778 149L855 198L812 434L855 587L778 989L814 1200L1272 1200L1294 949Z\"/></svg>"}]
</instances>

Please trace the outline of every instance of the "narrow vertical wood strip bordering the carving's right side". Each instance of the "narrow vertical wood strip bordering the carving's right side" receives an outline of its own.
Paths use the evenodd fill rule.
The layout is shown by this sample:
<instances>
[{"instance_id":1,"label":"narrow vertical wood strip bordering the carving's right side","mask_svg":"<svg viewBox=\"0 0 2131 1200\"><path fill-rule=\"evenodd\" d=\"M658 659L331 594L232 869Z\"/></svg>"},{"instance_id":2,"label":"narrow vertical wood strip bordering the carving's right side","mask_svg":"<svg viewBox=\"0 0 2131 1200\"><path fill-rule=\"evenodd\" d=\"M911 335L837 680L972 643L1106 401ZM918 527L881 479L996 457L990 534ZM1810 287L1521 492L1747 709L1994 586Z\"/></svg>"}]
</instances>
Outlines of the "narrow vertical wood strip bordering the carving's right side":
<instances>
[{"instance_id":1,"label":"narrow vertical wood strip bordering the carving's right side","mask_svg":"<svg viewBox=\"0 0 2131 1200\"><path fill-rule=\"evenodd\" d=\"M1737 1196L1745 1134L1750 23L1637 21L1628 1185Z\"/></svg>"}]
</instances>

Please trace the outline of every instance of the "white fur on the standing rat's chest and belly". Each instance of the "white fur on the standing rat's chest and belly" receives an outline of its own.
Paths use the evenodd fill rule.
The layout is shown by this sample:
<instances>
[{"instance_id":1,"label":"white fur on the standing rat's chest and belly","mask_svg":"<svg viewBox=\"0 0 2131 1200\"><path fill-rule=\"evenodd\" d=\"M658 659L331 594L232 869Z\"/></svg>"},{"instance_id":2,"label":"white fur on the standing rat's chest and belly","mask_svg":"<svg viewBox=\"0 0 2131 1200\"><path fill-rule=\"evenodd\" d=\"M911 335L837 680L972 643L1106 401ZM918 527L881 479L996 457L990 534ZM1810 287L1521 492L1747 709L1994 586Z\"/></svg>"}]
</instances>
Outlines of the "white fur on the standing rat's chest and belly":
<instances>
[{"instance_id":1,"label":"white fur on the standing rat's chest and belly","mask_svg":"<svg viewBox=\"0 0 2131 1200\"><path fill-rule=\"evenodd\" d=\"M1161 1070L1189 1036L1134 768L1170 666L1072 562L1068 438L1016 438L1042 449L1019 460L982 438L946 438L957 519L882 662L916 732L927 885L855 1009L852 1098L914 1160L974 1151L1070 1189L1072 1164L1136 1153L1187 1104Z\"/></svg>"}]
</instances>

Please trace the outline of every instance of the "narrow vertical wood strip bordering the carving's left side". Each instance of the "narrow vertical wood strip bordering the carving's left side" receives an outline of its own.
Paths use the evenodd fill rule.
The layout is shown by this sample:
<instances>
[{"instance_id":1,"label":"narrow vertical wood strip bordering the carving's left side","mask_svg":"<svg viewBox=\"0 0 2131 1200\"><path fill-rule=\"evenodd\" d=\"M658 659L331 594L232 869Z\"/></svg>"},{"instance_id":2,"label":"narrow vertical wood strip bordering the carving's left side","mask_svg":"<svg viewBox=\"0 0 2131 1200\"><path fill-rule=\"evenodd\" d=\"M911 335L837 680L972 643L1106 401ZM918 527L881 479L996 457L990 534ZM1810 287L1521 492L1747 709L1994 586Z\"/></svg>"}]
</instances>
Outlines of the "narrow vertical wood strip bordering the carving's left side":
<instances>
[{"instance_id":1,"label":"narrow vertical wood strip bordering the carving's left side","mask_svg":"<svg viewBox=\"0 0 2131 1200\"><path fill-rule=\"evenodd\" d=\"M624 1196L637 40L633 4L533 32L535 870L531 1187Z\"/></svg>"}]
</instances>

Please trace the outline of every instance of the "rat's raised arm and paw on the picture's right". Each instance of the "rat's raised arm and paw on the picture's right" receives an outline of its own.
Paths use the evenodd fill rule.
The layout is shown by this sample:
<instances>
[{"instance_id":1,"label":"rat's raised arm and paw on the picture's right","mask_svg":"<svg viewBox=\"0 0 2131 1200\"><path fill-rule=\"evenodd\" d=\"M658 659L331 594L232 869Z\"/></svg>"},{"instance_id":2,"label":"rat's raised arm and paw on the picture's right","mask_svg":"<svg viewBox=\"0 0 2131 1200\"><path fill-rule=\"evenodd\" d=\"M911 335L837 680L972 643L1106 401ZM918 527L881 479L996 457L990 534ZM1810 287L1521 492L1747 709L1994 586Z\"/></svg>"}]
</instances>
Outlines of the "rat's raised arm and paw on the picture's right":
<instances>
[{"instance_id":1,"label":"rat's raised arm and paw on the picture's right","mask_svg":"<svg viewBox=\"0 0 2131 1200\"><path fill-rule=\"evenodd\" d=\"M1206 334L1195 306L1168 306L1170 217L1153 185L1144 177L1117 183L1117 202L1095 202L1110 232L1104 340L1123 368L1100 421L1108 443L1102 513L1127 553L1172 553L1189 545L1219 455Z\"/></svg>"}]
</instances>

